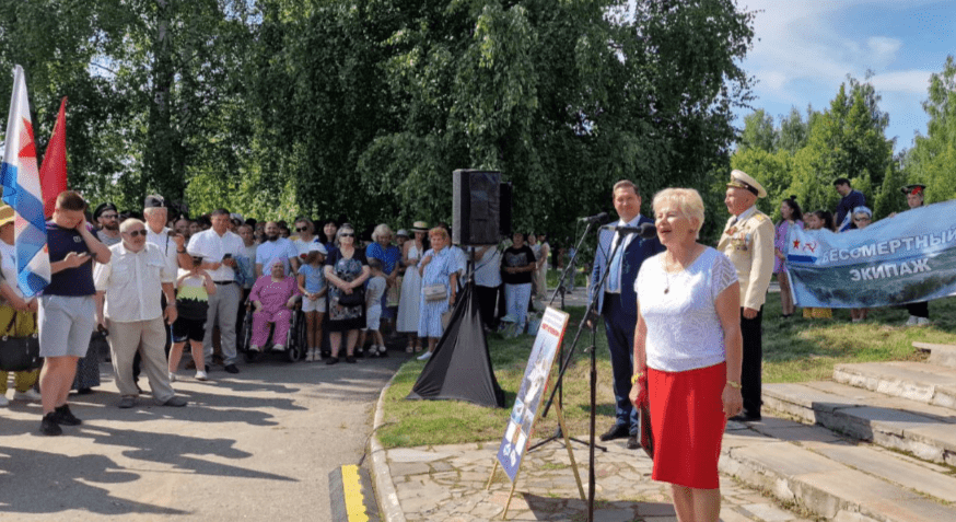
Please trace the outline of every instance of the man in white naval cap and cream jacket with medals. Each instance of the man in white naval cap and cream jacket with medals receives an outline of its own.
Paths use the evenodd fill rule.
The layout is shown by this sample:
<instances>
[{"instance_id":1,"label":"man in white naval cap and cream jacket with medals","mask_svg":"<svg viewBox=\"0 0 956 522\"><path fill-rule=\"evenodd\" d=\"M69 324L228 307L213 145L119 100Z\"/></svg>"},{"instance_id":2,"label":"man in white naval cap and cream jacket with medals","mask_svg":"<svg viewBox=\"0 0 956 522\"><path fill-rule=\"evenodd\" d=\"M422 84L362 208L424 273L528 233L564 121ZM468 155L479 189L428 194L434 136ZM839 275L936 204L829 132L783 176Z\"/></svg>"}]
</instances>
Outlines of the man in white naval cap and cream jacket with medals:
<instances>
[{"instance_id":1,"label":"man in white naval cap and cream jacket with medals","mask_svg":"<svg viewBox=\"0 0 956 522\"><path fill-rule=\"evenodd\" d=\"M767 197L767 190L743 171L731 173L731 183L724 204L730 210L724 232L718 243L737 269L741 282L741 334L744 337L744 360L741 373L741 393L744 410L732 420L760 420L761 322L763 301L773 275L773 222L757 210L757 198Z\"/></svg>"}]
</instances>

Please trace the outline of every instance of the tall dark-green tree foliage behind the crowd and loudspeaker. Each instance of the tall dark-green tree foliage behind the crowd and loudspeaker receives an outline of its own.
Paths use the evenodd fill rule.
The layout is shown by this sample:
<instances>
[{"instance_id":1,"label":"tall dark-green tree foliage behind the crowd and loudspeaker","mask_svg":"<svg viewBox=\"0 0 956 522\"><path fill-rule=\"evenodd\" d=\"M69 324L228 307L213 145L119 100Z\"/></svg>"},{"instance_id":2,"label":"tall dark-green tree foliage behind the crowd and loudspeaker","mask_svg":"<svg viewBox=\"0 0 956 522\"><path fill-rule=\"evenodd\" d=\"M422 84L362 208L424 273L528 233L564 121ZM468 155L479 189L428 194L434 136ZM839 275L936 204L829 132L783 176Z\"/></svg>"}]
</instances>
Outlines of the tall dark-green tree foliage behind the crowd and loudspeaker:
<instances>
[{"instance_id":1,"label":"tall dark-green tree foliage behind the crowd and loudspeaker","mask_svg":"<svg viewBox=\"0 0 956 522\"><path fill-rule=\"evenodd\" d=\"M31 73L38 127L70 96L71 186L127 208L159 192L193 213L448 221L452 171L488 169L514 186L516 228L566 234L620 178L649 201L723 173L751 101L753 14L732 0L0 0L0 63Z\"/></svg>"}]
</instances>

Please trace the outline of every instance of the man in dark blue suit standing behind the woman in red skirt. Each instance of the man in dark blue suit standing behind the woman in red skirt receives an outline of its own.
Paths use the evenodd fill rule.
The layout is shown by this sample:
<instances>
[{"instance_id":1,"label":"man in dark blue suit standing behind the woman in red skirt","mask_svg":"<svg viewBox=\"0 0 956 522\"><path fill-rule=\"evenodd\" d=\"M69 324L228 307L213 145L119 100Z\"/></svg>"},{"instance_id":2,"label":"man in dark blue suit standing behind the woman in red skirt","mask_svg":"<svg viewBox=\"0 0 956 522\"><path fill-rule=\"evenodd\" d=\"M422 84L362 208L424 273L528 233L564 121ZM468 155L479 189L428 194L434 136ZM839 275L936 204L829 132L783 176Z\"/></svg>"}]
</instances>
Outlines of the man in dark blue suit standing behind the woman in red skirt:
<instances>
[{"instance_id":1,"label":"man in dark blue suit standing behind the woman in red skirt","mask_svg":"<svg viewBox=\"0 0 956 522\"><path fill-rule=\"evenodd\" d=\"M614 208L620 218L615 227L639 228L654 220L641 216L641 195L633 183L623 179L614 185ZM622 243L621 243L622 242ZM615 246L621 243L611 258ZM638 323L637 293L634 279L641 264L648 257L662 252L664 247L657 237L642 240L634 233L620 233L602 229L598 234L594 272L591 277L588 295L597 291L597 312L604 316L607 346L610 350L610 364L614 371L615 424L601 436L601 440L628 438L628 449L640 448L638 442L638 415L628 398L631 378L634 373L634 325ZM605 272L607 280L601 288Z\"/></svg>"}]
</instances>

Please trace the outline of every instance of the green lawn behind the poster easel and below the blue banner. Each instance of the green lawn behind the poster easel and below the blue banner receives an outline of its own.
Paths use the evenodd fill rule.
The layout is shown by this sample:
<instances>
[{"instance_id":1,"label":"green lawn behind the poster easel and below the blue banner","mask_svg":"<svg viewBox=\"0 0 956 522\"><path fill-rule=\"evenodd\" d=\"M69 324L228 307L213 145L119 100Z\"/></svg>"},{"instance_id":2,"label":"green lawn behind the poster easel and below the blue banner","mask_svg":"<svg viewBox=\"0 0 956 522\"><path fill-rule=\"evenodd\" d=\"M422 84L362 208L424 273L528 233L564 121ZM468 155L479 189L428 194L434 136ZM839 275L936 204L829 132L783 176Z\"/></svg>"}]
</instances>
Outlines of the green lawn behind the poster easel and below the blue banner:
<instances>
[{"instance_id":1,"label":"green lawn behind the poster easel and below the blue banner","mask_svg":"<svg viewBox=\"0 0 956 522\"><path fill-rule=\"evenodd\" d=\"M584 309L571 308L569 312L566 350L570 349ZM933 325L923 328L903 327L908 314L905 309L894 308L871 310L870 320L856 324L850 322L848 310L835 310L833 320L828 321L796 315L783 320L780 318L780 297L771 293L763 309L763 381L828 380L833 366L841 362L919 360L924 356L913 350L916 340L956 344L956 298L933 301L930 314ZM458 401L406 401L424 363L412 360L404 364L385 396L386 426L378 430L382 444L409 448L500 439L533 341L531 336L515 339L504 339L497 334L488 336L494 374L505 392L505 408L485 408ZM588 344L590 334L585 332L564 375L568 431L580 439L587 438L590 428L590 356L584 352ZM614 421L610 362L603 327L598 329L596 344L596 430L601 433ZM557 374L556 364L552 381ZM535 425L533 437L548 437L557 425L552 408L547 418Z\"/></svg>"}]
</instances>

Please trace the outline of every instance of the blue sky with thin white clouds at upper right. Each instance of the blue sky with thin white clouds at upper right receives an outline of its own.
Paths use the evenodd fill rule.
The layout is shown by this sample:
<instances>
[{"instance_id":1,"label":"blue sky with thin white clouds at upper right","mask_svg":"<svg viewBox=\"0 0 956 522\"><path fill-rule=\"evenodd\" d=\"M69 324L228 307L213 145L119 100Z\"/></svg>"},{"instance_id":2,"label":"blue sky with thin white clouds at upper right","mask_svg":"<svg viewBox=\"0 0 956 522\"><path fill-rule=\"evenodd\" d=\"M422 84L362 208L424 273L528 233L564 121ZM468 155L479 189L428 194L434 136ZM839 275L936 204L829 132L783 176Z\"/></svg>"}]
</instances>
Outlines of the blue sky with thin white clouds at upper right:
<instances>
[{"instance_id":1,"label":"blue sky with thin white clouds at upper right","mask_svg":"<svg viewBox=\"0 0 956 522\"><path fill-rule=\"evenodd\" d=\"M743 62L758 83L753 105L777 117L829 107L847 74L870 80L889 114L888 138L910 148L925 134L930 74L941 72L947 54L956 55L956 2L953 0L738 0L738 8L761 11L754 24L754 48ZM739 126L743 126L738 114Z\"/></svg>"}]
</instances>

